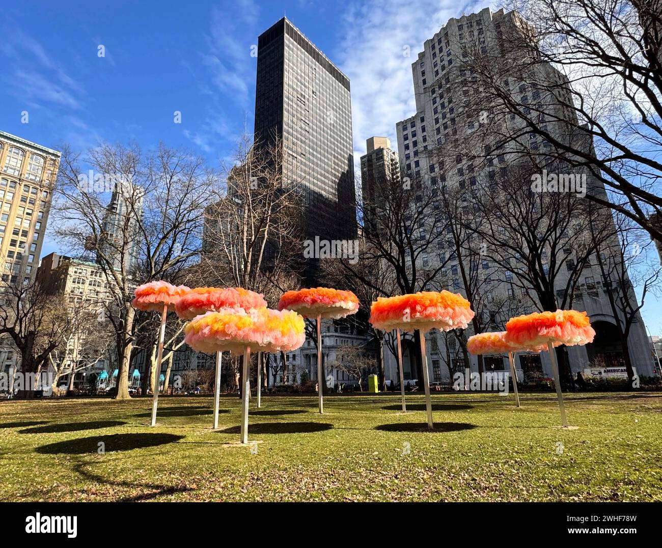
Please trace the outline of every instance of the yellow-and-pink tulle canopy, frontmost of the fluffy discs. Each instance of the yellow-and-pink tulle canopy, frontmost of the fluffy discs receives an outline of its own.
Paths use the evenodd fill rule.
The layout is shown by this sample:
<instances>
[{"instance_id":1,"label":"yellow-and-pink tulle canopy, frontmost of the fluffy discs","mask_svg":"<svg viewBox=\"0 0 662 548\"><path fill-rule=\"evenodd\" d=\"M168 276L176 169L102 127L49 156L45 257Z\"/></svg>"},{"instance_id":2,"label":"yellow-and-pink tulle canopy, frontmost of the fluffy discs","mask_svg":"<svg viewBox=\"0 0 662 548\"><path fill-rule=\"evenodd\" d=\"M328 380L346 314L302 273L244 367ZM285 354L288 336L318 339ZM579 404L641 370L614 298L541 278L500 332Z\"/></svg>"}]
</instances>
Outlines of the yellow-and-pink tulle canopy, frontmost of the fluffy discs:
<instances>
[{"instance_id":1,"label":"yellow-and-pink tulle canopy, frontmost of the fluffy discs","mask_svg":"<svg viewBox=\"0 0 662 548\"><path fill-rule=\"evenodd\" d=\"M194 350L214 353L230 351L289 352L306 340L303 318L292 310L224 308L207 312L189 322L185 342Z\"/></svg>"}]
</instances>

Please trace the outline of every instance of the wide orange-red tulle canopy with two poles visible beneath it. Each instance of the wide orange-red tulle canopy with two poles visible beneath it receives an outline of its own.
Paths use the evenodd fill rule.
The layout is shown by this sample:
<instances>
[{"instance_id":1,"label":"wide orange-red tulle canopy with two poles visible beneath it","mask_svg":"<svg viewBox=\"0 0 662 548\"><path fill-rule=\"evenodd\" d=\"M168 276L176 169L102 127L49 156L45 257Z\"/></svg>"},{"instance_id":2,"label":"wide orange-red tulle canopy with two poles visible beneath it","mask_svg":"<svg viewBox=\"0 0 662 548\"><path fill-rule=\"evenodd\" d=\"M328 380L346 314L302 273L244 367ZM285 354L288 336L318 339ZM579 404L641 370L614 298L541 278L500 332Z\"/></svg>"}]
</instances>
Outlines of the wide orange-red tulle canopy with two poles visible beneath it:
<instances>
[{"instance_id":1,"label":"wide orange-red tulle canopy with two poles visible beneath it","mask_svg":"<svg viewBox=\"0 0 662 548\"><path fill-rule=\"evenodd\" d=\"M370 307L370 323L385 331L463 329L471 322L471 318L473 310L469 301L449 291L422 291L398 297L379 297Z\"/></svg>"}]
</instances>

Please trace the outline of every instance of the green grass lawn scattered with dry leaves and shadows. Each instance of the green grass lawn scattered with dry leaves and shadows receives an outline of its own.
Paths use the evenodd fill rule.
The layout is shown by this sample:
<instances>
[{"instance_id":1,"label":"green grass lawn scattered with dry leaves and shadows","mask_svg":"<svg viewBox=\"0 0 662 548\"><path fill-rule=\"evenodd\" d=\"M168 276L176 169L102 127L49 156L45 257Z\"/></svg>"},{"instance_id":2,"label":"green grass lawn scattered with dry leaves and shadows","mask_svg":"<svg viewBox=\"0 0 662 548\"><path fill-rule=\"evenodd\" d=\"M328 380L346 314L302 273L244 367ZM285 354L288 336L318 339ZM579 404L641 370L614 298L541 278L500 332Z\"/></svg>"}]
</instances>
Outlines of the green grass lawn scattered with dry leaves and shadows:
<instances>
[{"instance_id":1,"label":"green grass lawn scattered with dry leaves and shadows","mask_svg":"<svg viewBox=\"0 0 662 548\"><path fill-rule=\"evenodd\" d=\"M662 395L434 394L251 400L211 397L0 403L0 500L662 500ZM97 452L99 442L105 454ZM408 445L407 445L408 444ZM562 444L562 445L561 445ZM409 447L407 454L406 447ZM562 449L562 451L561 451Z\"/></svg>"}]
</instances>

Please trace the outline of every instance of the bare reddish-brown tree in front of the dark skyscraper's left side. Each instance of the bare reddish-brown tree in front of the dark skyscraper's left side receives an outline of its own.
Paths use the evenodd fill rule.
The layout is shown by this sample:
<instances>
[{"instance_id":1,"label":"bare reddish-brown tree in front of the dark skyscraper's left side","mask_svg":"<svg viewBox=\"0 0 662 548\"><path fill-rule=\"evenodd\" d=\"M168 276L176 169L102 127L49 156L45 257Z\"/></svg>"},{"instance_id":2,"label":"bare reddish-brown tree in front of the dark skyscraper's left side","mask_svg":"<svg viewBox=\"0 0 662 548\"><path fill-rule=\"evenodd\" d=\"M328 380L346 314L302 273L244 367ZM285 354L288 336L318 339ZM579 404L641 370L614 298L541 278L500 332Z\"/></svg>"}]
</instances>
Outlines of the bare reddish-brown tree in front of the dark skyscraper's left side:
<instances>
[{"instance_id":1,"label":"bare reddish-brown tree in front of the dark skyscraper's left side","mask_svg":"<svg viewBox=\"0 0 662 548\"><path fill-rule=\"evenodd\" d=\"M275 306L282 291L299 287L301 200L295 181L283 181L283 148L244 136L214 204L205 210L206 280L263 293ZM209 283L209 282L208 282Z\"/></svg>"}]
</instances>

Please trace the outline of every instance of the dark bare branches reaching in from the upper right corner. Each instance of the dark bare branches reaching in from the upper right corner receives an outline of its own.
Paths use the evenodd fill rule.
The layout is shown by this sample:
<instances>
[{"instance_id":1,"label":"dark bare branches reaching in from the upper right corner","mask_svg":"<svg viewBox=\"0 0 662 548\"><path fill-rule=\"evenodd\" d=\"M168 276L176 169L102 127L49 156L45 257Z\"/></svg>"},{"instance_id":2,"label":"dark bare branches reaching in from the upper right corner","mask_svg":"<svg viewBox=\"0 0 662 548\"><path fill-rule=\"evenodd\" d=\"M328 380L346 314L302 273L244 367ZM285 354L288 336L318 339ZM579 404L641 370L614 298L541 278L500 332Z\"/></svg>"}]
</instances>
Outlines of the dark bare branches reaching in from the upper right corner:
<instances>
[{"instance_id":1,"label":"dark bare branches reaching in from the upper right corner","mask_svg":"<svg viewBox=\"0 0 662 548\"><path fill-rule=\"evenodd\" d=\"M537 142L540 154L587 169L608 190L589 200L662 240L651 222L662 212L659 0L506 0L506 7L518 13L487 38L495 54L480 44L463 52L467 83L489 109L481 131L498 150Z\"/></svg>"}]
</instances>

